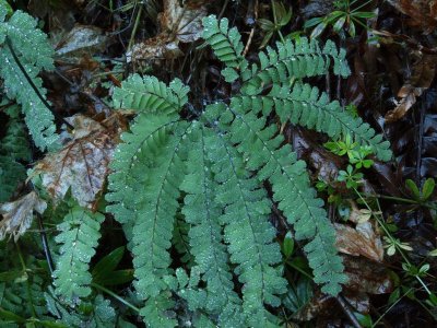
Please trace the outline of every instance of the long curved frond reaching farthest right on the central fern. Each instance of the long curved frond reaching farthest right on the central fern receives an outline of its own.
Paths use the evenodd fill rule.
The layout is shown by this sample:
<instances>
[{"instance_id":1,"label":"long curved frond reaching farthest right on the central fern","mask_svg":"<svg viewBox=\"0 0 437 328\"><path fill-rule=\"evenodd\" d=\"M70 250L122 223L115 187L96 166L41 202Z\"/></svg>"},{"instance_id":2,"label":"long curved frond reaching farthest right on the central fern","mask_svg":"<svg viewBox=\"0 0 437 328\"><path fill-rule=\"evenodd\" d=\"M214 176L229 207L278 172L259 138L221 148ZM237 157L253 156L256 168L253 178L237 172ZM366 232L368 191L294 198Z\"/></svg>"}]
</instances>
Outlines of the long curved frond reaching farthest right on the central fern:
<instances>
[{"instance_id":1,"label":"long curved frond reaching farthest right on the central fern","mask_svg":"<svg viewBox=\"0 0 437 328\"><path fill-rule=\"evenodd\" d=\"M265 116L274 109L281 122L290 120L331 138L350 134L356 142L369 145L379 160L391 159L390 143L382 141L381 134L376 134L361 118L352 117L338 101L329 102L328 95L316 86L295 83L291 92L287 86L273 85L268 95L233 97L231 107L241 106L252 108L255 113L262 112Z\"/></svg>"}]
</instances>

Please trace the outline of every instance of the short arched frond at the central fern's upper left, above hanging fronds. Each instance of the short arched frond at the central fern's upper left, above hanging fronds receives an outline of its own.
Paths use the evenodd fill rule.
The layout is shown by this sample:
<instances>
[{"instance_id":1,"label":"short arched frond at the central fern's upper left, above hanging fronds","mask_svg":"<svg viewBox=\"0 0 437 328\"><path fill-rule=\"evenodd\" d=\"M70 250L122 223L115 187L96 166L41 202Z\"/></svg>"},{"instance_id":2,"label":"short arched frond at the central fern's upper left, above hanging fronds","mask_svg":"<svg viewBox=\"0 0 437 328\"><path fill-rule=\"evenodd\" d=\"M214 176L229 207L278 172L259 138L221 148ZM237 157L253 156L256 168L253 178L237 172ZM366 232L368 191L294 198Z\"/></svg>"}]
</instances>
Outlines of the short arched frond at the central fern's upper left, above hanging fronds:
<instances>
[{"instance_id":1,"label":"short arched frond at the central fern's upper left, above hanging fronds","mask_svg":"<svg viewBox=\"0 0 437 328\"><path fill-rule=\"evenodd\" d=\"M155 77L133 74L114 91L114 106L140 113L178 113L188 101L188 91L179 79L175 79L167 87Z\"/></svg>"}]
</instances>

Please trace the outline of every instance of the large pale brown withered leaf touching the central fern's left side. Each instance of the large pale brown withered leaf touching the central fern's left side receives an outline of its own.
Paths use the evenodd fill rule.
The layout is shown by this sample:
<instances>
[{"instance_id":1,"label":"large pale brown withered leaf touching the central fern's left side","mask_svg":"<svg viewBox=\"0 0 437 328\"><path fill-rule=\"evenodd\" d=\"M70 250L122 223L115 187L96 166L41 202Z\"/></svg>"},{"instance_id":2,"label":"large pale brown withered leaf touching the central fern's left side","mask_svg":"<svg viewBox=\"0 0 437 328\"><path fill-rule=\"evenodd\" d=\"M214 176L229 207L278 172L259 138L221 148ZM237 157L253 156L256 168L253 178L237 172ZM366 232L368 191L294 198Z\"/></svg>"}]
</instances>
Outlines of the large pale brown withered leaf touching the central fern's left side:
<instances>
[{"instance_id":1,"label":"large pale brown withered leaf touching the central fern's left side","mask_svg":"<svg viewBox=\"0 0 437 328\"><path fill-rule=\"evenodd\" d=\"M55 202L71 188L71 195L79 204L93 208L109 173L108 164L122 129L104 127L80 115L70 122L75 129L72 136L63 136L66 145L37 163L34 174L40 175L43 186Z\"/></svg>"}]
</instances>

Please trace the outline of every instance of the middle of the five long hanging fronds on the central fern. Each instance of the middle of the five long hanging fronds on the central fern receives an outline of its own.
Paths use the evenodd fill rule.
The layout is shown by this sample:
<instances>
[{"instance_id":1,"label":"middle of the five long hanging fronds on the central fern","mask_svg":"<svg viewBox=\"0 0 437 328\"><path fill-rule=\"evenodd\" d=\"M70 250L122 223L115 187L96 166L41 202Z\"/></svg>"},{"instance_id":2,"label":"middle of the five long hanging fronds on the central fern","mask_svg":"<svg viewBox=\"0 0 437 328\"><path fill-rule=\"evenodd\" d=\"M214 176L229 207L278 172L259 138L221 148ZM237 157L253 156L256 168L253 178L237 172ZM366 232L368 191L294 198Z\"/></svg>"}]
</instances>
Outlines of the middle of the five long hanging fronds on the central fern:
<instances>
[{"instance_id":1,"label":"middle of the five long hanging fronds on the central fern","mask_svg":"<svg viewBox=\"0 0 437 328\"><path fill-rule=\"evenodd\" d=\"M241 327L245 317L238 295L234 292L226 247L223 244L222 209L215 201L217 184L213 179L206 154L205 139L211 130L196 129L190 139L187 174L181 189L187 192L182 213L191 225L189 231L191 253L197 270L206 283L206 298L201 308L212 316L218 315L221 327ZM182 295L184 296L184 295Z\"/></svg>"}]
</instances>

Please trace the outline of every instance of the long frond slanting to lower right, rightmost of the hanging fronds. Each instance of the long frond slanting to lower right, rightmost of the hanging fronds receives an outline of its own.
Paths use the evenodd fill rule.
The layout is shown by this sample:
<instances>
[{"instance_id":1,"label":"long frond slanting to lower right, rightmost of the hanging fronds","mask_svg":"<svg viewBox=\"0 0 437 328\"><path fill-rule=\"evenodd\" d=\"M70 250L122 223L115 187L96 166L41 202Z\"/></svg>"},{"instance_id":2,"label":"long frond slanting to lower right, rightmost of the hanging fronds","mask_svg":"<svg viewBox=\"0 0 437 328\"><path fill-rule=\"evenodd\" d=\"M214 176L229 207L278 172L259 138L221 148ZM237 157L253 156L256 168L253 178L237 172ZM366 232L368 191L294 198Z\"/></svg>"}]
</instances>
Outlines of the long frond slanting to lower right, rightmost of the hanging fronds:
<instances>
[{"instance_id":1,"label":"long frond slanting to lower right, rightmost of the hanging fronds","mask_svg":"<svg viewBox=\"0 0 437 328\"><path fill-rule=\"evenodd\" d=\"M288 147L281 147L283 138L277 136L275 126L265 127L265 118L258 118L250 109L233 102L228 112L233 113L234 120L227 127L232 142L244 154L247 167L258 172L259 180L269 179L272 184L273 199L288 223L294 225L296 239L312 239L305 250L315 281L323 285L323 292L336 295L345 276L334 246L334 229L322 208L323 201L316 198L316 191L310 188L305 163L296 161ZM231 120L228 115L226 120ZM224 124L221 127L226 129Z\"/></svg>"}]
</instances>

